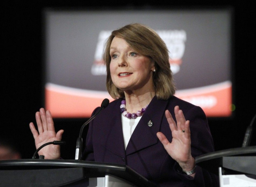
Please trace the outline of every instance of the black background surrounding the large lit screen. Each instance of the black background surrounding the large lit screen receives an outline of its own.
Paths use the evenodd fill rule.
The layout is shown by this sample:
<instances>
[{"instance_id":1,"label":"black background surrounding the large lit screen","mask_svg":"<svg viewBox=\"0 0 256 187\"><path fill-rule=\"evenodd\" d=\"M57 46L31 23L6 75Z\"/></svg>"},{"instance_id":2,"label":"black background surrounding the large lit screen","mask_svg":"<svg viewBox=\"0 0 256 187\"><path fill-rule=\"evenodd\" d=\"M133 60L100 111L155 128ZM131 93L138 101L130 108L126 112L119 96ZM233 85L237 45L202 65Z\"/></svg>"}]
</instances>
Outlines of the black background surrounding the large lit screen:
<instances>
[{"instance_id":1,"label":"black background surrounding the large lit screen","mask_svg":"<svg viewBox=\"0 0 256 187\"><path fill-rule=\"evenodd\" d=\"M35 112L43 107L42 8L44 7L222 7L234 8L233 91L235 112L229 119L211 119L209 126L215 149L241 147L246 127L256 114L255 62L256 11L253 1L215 0L193 2L147 1L8 1L1 2L1 124L0 137L15 142L22 158L35 152L29 122L35 122ZM213 62L214 63L214 62ZM56 130L64 129L62 147L64 159L74 159L75 143L81 125L87 119L56 120ZM254 124L255 126L255 124ZM256 128L256 127L255 127ZM250 145L256 145L256 133Z\"/></svg>"}]
</instances>

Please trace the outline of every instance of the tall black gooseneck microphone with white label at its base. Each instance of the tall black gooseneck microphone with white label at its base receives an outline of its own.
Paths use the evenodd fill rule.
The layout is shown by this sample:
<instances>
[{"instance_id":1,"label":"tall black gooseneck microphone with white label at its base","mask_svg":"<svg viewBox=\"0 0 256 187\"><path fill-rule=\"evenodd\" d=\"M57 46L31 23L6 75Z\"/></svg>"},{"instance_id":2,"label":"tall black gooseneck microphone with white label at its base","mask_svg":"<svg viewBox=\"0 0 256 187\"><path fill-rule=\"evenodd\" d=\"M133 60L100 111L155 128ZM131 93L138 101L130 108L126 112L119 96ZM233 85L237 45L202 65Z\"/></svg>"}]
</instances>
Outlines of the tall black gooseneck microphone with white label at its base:
<instances>
[{"instance_id":1,"label":"tall black gooseneck microphone with white label at its base","mask_svg":"<svg viewBox=\"0 0 256 187\"><path fill-rule=\"evenodd\" d=\"M79 133L79 137L77 138L77 146L75 148L75 160L81 160L81 157L82 157L82 145L83 145L83 139L82 139L82 133L83 133L83 128L85 128L85 126L87 124L89 124L89 122L91 120L93 120L99 112L102 111L102 109L106 108L107 105L109 105L109 100L108 99L104 99L101 103L101 108L99 109L99 111L97 113L95 113L88 121L86 121L81 129L80 129L80 133Z\"/></svg>"}]
</instances>

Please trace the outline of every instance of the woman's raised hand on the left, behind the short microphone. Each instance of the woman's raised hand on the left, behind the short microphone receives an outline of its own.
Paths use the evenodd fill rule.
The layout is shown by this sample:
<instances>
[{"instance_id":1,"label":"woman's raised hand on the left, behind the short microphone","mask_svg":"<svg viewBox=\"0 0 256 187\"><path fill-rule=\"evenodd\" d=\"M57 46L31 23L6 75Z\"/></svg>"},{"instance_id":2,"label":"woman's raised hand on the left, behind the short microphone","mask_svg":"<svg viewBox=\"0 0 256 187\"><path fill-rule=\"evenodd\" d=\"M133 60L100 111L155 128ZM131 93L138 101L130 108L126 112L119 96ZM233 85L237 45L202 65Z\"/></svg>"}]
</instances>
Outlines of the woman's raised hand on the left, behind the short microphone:
<instances>
[{"instance_id":1,"label":"woman's raised hand on the left, behind the short microphone","mask_svg":"<svg viewBox=\"0 0 256 187\"><path fill-rule=\"evenodd\" d=\"M39 112L35 113L35 119L38 131L33 122L30 122L29 127L35 139L35 147L37 149L45 143L55 140L61 141L64 130L59 130L57 133L55 132L53 117L49 110L45 112L45 109L41 108ZM61 157L61 148L60 145L50 144L43 147L38 154L44 155L45 159L59 159Z\"/></svg>"}]
</instances>

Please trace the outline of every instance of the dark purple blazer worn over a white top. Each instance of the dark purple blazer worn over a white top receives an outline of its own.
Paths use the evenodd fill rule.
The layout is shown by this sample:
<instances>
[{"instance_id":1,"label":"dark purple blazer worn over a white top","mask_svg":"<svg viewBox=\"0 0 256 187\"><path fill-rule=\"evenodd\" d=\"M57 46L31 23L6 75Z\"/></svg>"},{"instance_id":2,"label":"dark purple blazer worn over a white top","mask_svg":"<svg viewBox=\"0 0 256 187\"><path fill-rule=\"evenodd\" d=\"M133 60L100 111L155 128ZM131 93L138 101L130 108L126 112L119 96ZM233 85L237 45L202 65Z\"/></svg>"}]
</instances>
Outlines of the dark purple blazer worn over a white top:
<instances>
[{"instance_id":1,"label":"dark purple blazer worn over a white top","mask_svg":"<svg viewBox=\"0 0 256 187\"><path fill-rule=\"evenodd\" d=\"M195 177L184 175L178 163L166 152L157 138L161 131L171 142L171 130L165 117L169 110L175 119L174 107L179 105L185 119L190 120L191 154L195 158L214 151L213 139L205 113L200 107L171 96L168 100L152 99L136 126L125 150L123 140L121 99L112 101L90 122L83 159L87 161L126 164L145 178L171 187L215 187L218 177L197 167ZM95 109L93 114L98 110ZM149 121L153 122L150 127Z\"/></svg>"}]
</instances>

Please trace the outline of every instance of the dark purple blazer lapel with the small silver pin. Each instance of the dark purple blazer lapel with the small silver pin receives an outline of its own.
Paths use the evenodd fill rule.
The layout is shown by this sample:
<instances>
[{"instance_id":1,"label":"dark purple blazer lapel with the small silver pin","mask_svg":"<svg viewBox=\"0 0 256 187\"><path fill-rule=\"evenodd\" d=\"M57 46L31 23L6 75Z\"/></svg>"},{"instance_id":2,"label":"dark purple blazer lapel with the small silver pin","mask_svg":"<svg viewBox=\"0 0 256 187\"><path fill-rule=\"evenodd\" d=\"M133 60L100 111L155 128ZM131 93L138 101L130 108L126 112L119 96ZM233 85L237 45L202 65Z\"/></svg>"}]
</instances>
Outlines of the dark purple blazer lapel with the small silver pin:
<instances>
[{"instance_id":1,"label":"dark purple blazer lapel with the small silver pin","mask_svg":"<svg viewBox=\"0 0 256 187\"><path fill-rule=\"evenodd\" d=\"M168 100L157 100L156 97L152 99L131 135L126 148L126 155L132 154L158 142L157 132L160 129L162 118L165 116L167 104ZM149 121L153 123L152 126L148 125Z\"/></svg>"}]
</instances>

